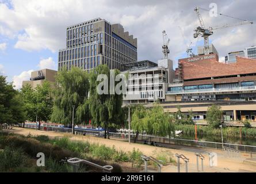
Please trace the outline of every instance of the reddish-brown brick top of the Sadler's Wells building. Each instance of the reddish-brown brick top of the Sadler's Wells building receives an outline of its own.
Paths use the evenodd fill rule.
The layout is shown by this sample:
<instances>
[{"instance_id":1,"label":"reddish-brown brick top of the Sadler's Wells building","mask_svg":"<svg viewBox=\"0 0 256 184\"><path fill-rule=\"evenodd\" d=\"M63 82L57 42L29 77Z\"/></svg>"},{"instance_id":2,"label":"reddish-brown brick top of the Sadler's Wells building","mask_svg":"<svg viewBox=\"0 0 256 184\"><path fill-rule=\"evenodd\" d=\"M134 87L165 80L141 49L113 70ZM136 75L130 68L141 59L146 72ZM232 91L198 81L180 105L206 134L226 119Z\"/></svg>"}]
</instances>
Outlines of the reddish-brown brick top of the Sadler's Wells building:
<instances>
[{"instance_id":1,"label":"reddish-brown brick top of the Sadler's Wells building","mask_svg":"<svg viewBox=\"0 0 256 184\"><path fill-rule=\"evenodd\" d=\"M236 63L232 64L220 63L214 59L196 62L179 60L179 63L182 64L184 80L256 73L256 59L239 56L236 56Z\"/></svg>"}]
</instances>

